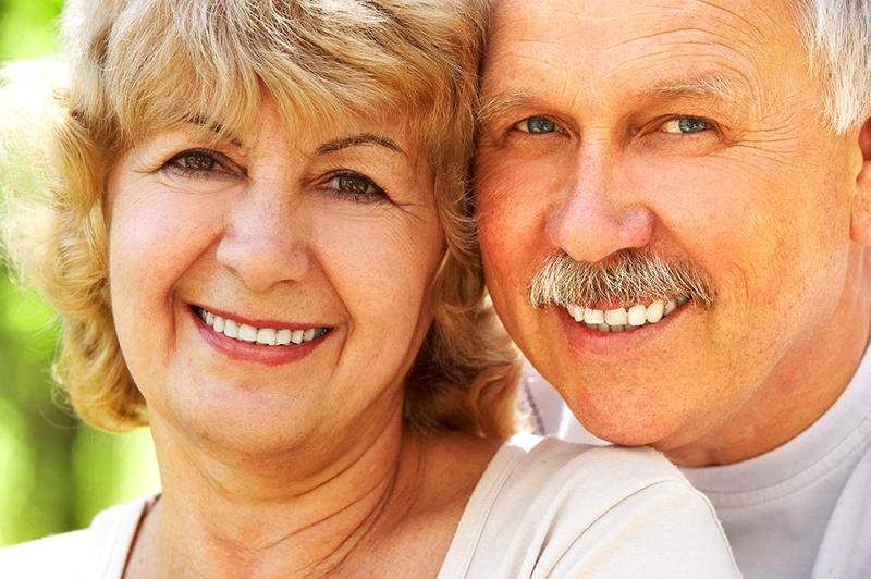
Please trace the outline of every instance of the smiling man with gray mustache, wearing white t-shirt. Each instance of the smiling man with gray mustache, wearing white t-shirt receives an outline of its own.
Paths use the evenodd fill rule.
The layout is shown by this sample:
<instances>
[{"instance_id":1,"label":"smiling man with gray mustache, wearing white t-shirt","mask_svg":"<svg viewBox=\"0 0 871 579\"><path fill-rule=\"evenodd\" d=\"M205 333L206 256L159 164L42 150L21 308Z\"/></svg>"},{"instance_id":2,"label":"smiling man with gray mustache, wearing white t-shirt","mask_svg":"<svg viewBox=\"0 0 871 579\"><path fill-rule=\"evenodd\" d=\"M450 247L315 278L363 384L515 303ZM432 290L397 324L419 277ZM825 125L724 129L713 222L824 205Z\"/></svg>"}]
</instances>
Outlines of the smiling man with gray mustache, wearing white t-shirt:
<instances>
[{"instance_id":1,"label":"smiling man with gray mustache, wearing white t-shirt","mask_svg":"<svg viewBox=\"0 0 871 579\"><path fill-rule=\"evenodd\" d=\"M498 0L476 204L505 327L748 578L871 577L871 7Z\"/></svg>"}]
</instances>

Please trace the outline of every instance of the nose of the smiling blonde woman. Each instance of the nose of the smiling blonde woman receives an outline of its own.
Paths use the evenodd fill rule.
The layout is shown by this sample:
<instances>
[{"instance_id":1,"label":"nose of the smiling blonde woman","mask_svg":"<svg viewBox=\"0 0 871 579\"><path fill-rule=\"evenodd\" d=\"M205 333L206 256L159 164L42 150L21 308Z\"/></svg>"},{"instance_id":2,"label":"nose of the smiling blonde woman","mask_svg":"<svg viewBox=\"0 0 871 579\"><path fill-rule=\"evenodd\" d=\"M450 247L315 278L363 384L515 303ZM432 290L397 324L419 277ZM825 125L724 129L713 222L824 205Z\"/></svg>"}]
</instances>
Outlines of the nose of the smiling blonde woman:
<instances>
[{"instance_id":1,"label":"nose of the smiling blonde woman","mask_svg":"<svg viewBox=\"0 0 871 579\"><path fill-rule=\"evenodd\" d=\"M304 280L311 261L307 211L299 192L275 183L249 187L229 210L219 263L254 292Z\"/></svg>"}]
</instances>

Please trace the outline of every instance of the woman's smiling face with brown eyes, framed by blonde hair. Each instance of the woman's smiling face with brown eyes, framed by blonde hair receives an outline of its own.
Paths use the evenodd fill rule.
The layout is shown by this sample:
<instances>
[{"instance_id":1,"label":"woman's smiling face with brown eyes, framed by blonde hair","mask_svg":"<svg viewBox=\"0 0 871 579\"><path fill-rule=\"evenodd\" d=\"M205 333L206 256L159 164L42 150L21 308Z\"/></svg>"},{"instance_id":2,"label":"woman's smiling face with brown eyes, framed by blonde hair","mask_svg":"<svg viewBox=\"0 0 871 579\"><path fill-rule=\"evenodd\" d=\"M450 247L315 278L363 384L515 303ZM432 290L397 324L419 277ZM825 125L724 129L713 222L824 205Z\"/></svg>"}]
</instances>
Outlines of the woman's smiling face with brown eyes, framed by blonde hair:
<instances>
[{"instance_id":1,"label":"woman's smiling face with brown eyes, framed by blonde hair","mask_svg":"<svg viewBox=\"0 0 871 579\"><path fill-rule=\"evenodd\" d=\"M265 109L232 140L192 124L116 162L112 307L152 426L269 454L397 423L444 242L396 131L291 134Z\"/></svg>"}]
</instances>

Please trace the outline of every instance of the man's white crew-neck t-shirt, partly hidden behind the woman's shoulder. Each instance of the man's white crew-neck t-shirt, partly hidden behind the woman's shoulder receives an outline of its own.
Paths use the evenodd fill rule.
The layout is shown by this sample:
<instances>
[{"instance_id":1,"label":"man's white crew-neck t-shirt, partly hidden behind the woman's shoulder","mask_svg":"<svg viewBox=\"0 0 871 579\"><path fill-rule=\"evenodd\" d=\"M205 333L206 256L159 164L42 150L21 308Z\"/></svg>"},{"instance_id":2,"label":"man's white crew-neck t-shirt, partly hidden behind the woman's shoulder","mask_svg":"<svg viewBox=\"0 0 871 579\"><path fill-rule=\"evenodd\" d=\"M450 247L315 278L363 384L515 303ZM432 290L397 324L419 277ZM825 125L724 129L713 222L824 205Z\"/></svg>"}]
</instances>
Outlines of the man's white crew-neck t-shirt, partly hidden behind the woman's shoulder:
<instances>
[{"instance_id":1,"label":"man's white crew-neck t-shirt, partly hidden behind the woman's shoulder","mask_svg":"<svg viewBox=\"0 0 871 579\"><path fill-rule=\"evenodd\" d=\"M531 367L524 387L539 433L597 442ZM871 354L837 402L785 445L682 471L716 507L746 579L871 578Z\"/></svg>"}]
</instances>

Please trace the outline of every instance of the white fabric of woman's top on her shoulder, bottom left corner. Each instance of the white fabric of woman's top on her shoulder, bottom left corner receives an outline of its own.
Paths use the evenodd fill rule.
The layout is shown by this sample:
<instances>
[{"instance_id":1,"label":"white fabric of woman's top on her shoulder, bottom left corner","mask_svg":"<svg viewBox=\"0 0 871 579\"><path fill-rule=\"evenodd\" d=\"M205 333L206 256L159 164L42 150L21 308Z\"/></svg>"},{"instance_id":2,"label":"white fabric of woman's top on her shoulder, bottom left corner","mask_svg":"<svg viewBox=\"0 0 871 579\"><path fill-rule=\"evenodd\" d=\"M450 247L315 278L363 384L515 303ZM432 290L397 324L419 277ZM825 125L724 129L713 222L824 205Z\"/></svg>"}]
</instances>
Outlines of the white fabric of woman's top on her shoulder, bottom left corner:
<instances>
[{"instance_id":1,"label":"white fabric of woman's top on her shoulder, bottom left corner","mask_svg":"<svg viewBox=\"0 0 871 579\"><path fill-rule=\"evenodd\" d=\"M0 549L4 579L114 579L119 560L126 560L143 510L155 496L145 496L99 513L87 529L54 534Z\"/></svg>"}]
</instances>

